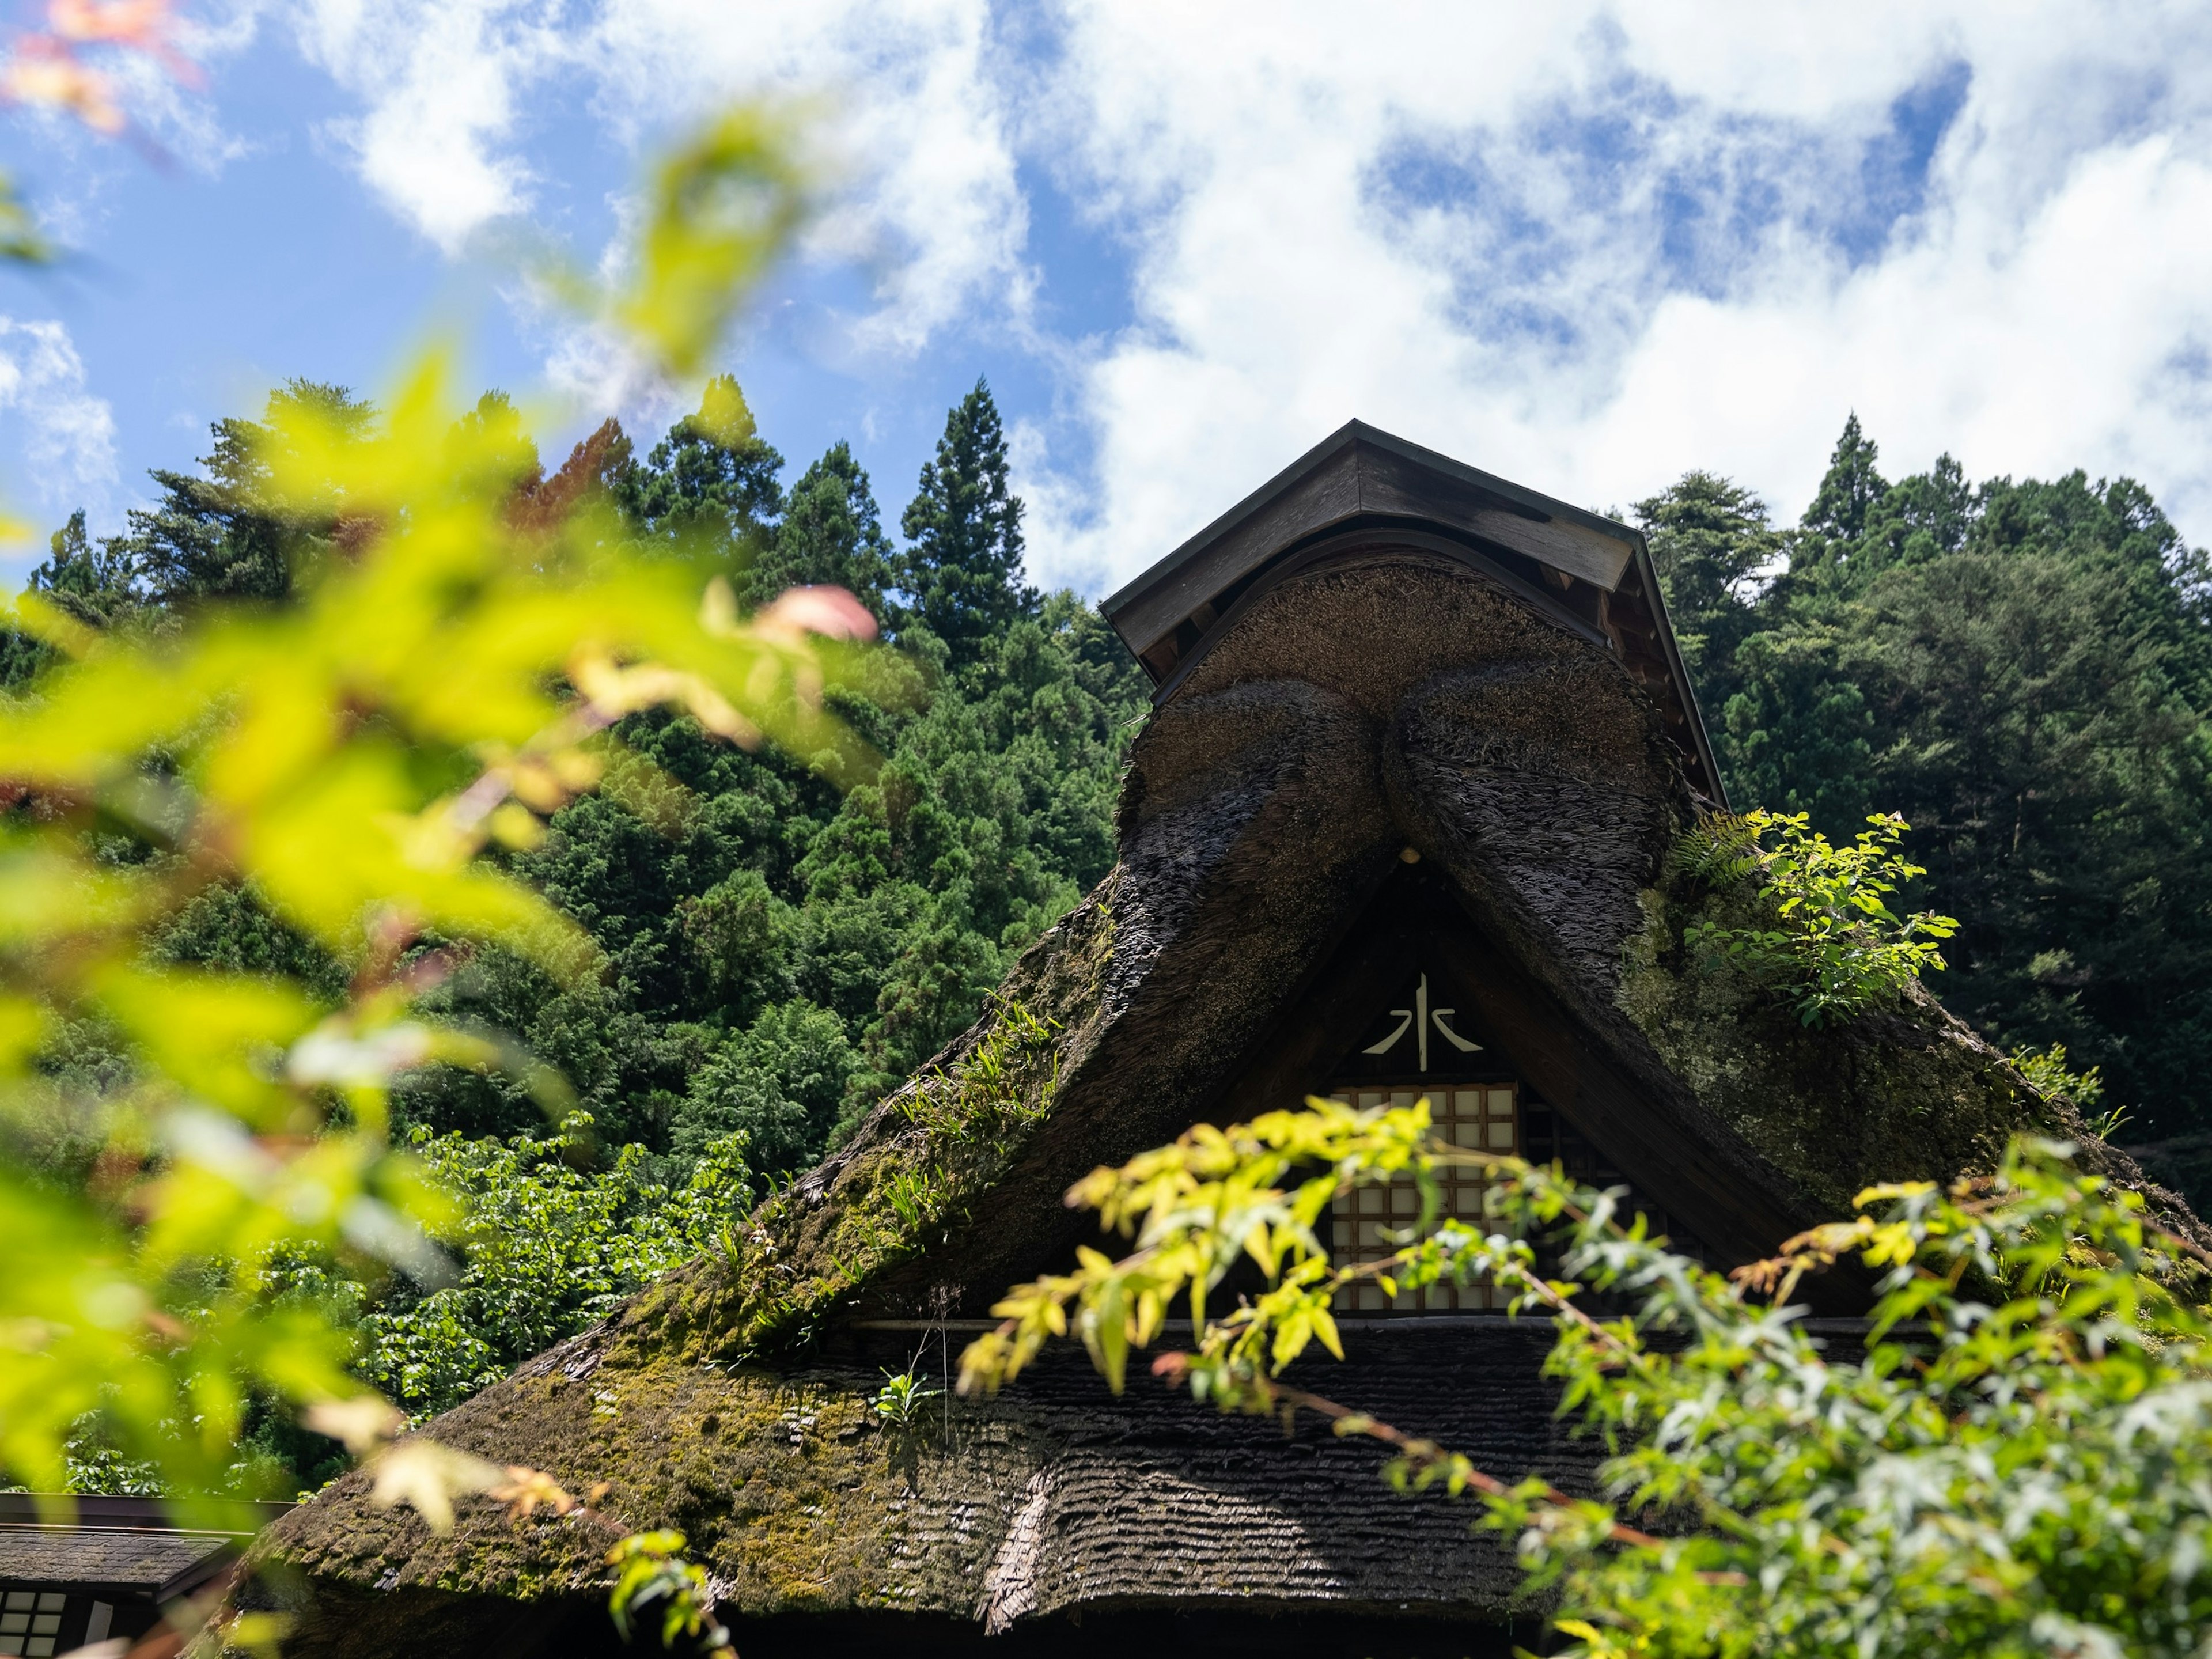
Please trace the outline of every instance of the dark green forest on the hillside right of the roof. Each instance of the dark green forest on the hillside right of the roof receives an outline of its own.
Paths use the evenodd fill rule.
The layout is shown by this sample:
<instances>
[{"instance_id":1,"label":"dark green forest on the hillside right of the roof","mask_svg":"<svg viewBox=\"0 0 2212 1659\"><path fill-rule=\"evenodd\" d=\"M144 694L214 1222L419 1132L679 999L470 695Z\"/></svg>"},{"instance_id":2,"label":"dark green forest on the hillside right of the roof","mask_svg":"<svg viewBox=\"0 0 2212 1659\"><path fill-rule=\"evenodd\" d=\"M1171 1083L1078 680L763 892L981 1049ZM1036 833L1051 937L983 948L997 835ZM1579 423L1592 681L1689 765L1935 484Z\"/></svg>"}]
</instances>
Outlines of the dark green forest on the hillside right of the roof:
<instances>
[{"instance_id":1,"label":"dark green forest on the hillside right of the roof","mask_svg":"<svg viewBox=\"0 0 2212 1659\"><path fill-rule=\"evenodd\" d=\"M1688 476L1644 502L1739 807L1918 830L1944 1002L2064 1044L2141 1133L2212 1113L2205 555L2132 480L1887 480L1849 422L1805 520ZM1701 641L1692 653L1688 639Z\"/></svg>"}]
</instances>

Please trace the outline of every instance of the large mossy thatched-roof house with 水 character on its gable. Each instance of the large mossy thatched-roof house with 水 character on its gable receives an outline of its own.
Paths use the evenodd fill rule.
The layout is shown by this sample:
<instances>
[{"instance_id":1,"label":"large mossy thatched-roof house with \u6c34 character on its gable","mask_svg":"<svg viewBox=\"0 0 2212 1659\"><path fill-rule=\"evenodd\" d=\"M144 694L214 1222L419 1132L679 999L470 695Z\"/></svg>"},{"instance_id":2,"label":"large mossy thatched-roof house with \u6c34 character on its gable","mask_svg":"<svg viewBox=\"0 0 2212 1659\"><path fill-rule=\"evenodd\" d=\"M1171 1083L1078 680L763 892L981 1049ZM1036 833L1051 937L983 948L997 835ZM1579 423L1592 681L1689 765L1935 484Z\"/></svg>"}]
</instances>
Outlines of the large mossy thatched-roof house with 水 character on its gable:
<instances>
[{"instance_id":1,"label":"large mossy thatched-roof house with \u6c34 character on its gable","mask_svg":"<svg viewBox=\"0 0 2212 1659\"><path fill-rule=\"evenodd\" d=\"M1307 1093L1425 1091L1455 1133L1628 1181L1717 1261L1869 1179L2079 1124L1924 995L1805 1031L1686 960L1683 922L1721 900L1666 852L1719 781L1632 529L1354 422L1106 615L1159 681L1115 872L734 1259L429 1433L681 1526L752 1659L1504 1652L1533 1637L1511 1562L1449 1502L1391 1495L1367 1444L1148 1378L1113 1398L1079 1356L891 1429L883 1369L920 1347L942 1376L1004 1285L1062 1267L1091 1225L1062 1206L1075 1177ZM1865 1294L1812 1290L1827 1316ZM1462 1292L1349 1310L1347 1334L1336 1398L1500 1475L1588 1467L1551 1420L1542 1325ZM365 1486L272 1533L294 1652L611 1641L595 1535L478 1502L440 1540Z\"/></svg>"}]
</instances>

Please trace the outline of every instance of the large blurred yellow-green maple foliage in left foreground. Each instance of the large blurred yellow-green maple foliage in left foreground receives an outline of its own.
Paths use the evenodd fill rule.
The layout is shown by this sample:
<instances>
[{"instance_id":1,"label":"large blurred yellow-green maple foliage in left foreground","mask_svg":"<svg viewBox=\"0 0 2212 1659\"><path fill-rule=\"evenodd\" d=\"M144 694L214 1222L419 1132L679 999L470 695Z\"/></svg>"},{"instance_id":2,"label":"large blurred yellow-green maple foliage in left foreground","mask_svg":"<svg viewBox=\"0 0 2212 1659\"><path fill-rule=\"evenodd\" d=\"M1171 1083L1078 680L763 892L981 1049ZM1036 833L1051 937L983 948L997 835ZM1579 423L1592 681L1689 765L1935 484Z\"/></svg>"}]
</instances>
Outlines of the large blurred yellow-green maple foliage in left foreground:
<instances>
[{"instance_id":1,"label":"large blurred yellow-green maple foliage in left foreground","mask_svg":"<svg viewBox=\"0 0 2212 1659\"><path fill-rule=\"evenodd\" d=\"M11 825L0 867L18 918L0 960L4 1102L24 1126L73 1119L119 1177L66 1190L0 1175L24 1265L0 1312L33 1334L0 1349L0 1451L49 1489L86 1413L122 1455L217 1491L250 1398L354 1387L325 1312L270 1303L257 1263L272 1250L440 1276L414 1221L442 1208L385 1141L385 1082L495 1051L407 1018L411 987L440 969L429 956L396 973L398 951L438 929L573 956L573 925L473 854L493 834L526 843L540 818L522 801L551 810L597 772L582 741L593 726L675 695L754 732L723 684L803 748L832 732L794 695L805 653L734 624L701 630L681 566L622 564L588 518L518 544L502 493L473 487L498 458L440 416L436 365L378 431L327 405L292 416L270 487L385 526L296 604L146 641L91 633L35 593L20 608L82 659L0 717L0 768L46 803ZM617 653L668 668L617 666ZM586 701L557 699L549 668ZM781 703L763 697L776 684ZM164 765L148 770L155 748ZM148 949L248 889L285 936L358 964L347 1006L265 964L184 967ZM84 1024L113 1033L115 1062L58 1097L49 1055ZM164 1340L148 1345L148 1329Z\"/></svg>"}]
</instances>

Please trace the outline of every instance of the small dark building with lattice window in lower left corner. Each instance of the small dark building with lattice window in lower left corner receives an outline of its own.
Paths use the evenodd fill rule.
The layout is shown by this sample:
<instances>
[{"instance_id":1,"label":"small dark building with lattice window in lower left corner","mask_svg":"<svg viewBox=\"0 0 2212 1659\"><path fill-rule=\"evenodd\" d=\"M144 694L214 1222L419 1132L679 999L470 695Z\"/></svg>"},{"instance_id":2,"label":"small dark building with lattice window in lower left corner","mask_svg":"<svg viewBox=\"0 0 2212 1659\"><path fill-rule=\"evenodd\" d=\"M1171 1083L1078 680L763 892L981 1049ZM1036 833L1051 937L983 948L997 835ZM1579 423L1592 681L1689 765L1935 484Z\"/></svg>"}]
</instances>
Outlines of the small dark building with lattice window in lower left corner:
<instances>
[{"instance_id":1,"label":"small dark building with lattice window in lower left corner","mask_svg":"<svg viewBox=\"0 0 2212 1659\"><path fill-rule=\"evenodd\" d=\"M49 1500L51 1502L51 1500ZM31 1493L0 1493L0 1655L135 1641L161 1608L230 1566L250 1533L192 1531L159 1498L71 1498L55 1524ZM290 1504L252 1504L263 1522Z\"/></svg>"}]
</instances>

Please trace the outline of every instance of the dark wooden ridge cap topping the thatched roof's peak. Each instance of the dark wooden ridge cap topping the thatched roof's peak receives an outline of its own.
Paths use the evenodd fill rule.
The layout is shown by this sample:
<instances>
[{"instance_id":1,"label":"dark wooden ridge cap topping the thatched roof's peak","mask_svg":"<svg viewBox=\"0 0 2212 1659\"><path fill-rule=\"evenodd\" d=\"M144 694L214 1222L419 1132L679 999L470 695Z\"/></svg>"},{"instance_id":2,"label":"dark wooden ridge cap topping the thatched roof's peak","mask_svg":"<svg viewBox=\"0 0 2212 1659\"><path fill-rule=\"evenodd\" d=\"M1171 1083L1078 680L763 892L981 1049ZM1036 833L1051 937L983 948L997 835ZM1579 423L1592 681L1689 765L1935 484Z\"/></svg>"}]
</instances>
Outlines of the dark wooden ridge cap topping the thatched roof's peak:
<instances>
[{"instance_id":1,"label":"dark wooden ridge cap topping the thatched roof's peak","mask_svg":"<svg viewBox=\"0 0 2212 1659\"><path fill-rule=\"evenodd\" d=\"M1365 420L1332 431L1102 611L1168 697L1232 611L1318 544L1360 531L1458 549L1533 608L1604 641L1650 692L1690 785L1725 799L1641 531Z\"/></svg>"}]
</instances>

